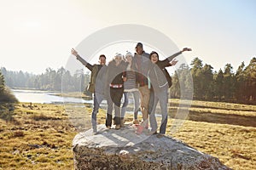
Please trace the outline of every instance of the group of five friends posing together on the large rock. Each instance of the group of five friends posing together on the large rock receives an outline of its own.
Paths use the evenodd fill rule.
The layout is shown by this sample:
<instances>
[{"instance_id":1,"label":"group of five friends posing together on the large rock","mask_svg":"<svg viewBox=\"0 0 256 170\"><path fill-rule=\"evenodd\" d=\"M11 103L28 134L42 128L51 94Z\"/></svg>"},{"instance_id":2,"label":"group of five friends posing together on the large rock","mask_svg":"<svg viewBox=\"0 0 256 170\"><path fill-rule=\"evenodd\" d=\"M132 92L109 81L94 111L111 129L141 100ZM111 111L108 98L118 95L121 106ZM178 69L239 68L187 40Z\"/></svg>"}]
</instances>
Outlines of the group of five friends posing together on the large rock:
<instances>
[{"instance_id":1,"label":"group of five friends posing together on the large rock","mask_svg":"<svg viewBox=\"0 0 256 170\"><path fill-rule=\"evenodd\" d=\"M106 127L110 129L112 123L117 130L125 127L125 111L129 103L129 94L132 94L134 99L133 124L140 124L143 128L148 129L149 133L157 133L155 109L159 102L160 134L166 133L168 88L172 86L172 78L166 71L166 67L176 65L177 60L174 58L191 49L183 48L164 60L160 60L159 54L154 51L150 54L146 53L143 50L142 42L138 42L135 49L135 54L131 52L127 52L125 56L119 53L115 54L108 65L106 65L104 54L99 56L99 64L91 65L75 49L71 50L71 53L91 71L88 90L93 94L91 125L95 134L97 133L96 114L104 99L108 103ZM123 97L124 102L122 103ZM143 113L141 122L138 120L140 109ZM150 128L148 128L149 124Z\"/></svg>"}]
</instances>

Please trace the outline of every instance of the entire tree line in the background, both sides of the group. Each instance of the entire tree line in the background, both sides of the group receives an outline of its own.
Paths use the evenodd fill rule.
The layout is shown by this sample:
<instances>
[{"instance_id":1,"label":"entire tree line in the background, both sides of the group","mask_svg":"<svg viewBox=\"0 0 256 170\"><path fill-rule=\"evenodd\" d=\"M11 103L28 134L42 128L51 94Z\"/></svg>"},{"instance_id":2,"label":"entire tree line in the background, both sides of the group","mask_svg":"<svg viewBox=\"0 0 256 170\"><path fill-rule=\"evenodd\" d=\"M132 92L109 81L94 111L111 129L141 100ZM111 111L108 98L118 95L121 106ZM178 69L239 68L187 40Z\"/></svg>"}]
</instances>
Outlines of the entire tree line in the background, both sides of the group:
<instances>
[{"instance_id":1,"label":"entire tree line in the background, both sides of the group","mask_svg":"<svg viewBox=\"0 0 256 170\"><path fill-rule=\"evenodd\" d=\"M201 59L195 58L190 67L183 64L177 69L172 76L172 88L170 88L172 98L186 98L187 94L193 93L193 99L256 103L255 57L247 66L242 62L236 72L230 64L224 65L224 70L213 71L212 65L202 63ZM84 91L85 94L89 94L86 86L90 82L90 71L84 73L83 70L78 70L72 75L61 67L57 71L47 68L44 73L34 75L23 71L7 71L2 67L1 72L4 77L3 82L9 88L34 88L62 92Z\"/></svg>"}]
</instances>

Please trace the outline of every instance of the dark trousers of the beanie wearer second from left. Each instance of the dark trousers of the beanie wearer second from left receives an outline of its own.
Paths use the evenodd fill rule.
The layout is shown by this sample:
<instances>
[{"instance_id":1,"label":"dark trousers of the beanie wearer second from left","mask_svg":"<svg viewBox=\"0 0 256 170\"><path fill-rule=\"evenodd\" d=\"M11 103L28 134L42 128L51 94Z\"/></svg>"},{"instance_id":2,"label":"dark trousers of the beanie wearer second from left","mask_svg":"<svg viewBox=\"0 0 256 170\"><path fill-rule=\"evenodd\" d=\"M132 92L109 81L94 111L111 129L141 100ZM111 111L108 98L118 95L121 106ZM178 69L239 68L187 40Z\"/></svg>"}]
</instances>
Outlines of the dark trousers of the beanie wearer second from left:
<instances>
[{"instance_id":1,"label":"dark trousers of the beanie wearer second from left","mask_svg":"<svg viewBox=\"0 0 256 170\"><path fill-rule=\"evenodd\" d=\"M112 111L114 105L114 116L115 116L115 124L119 125L121 120L121 99L124 94L124 88L110 88L110 98L108 98L108 111L106 118L106 126L112 125Z\"/></svg>"}]
</instances>

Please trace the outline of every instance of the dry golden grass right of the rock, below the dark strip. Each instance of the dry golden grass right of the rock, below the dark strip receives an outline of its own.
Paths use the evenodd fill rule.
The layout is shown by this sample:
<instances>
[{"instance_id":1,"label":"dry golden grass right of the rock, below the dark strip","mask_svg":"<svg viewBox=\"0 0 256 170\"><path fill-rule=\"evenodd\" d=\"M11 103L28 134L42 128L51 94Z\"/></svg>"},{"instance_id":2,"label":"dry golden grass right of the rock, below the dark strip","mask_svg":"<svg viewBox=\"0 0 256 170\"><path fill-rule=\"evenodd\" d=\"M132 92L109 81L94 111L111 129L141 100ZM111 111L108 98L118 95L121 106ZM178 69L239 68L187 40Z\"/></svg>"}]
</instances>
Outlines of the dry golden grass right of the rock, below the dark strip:
<instances>
[{"instance_id":1,"label":"dry golden grass right of the rock, below the dark strip","mask_svg":"<svg viewBox=\"0 0 256 170\"><path fill-rule=\"evenodd\" d=\"M168 124L171 128L172 122ZM218 157L228 167L256 167L255 127L186 121L172 136L197 150Z\"/></svg>"}]
</instances>

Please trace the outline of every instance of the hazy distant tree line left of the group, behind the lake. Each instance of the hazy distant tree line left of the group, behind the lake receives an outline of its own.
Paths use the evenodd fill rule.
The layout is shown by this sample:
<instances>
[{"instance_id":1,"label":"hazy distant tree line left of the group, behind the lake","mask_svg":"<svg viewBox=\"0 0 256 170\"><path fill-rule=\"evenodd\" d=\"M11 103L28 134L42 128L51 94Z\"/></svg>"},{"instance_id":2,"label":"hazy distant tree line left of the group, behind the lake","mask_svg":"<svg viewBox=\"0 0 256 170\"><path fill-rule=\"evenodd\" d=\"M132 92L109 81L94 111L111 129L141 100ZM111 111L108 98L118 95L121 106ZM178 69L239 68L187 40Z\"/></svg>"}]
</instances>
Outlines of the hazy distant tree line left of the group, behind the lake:
<instances>
[{"instance_id":1,"label":"hazy distant tree line left of the group, behind the lake","mask_svg":"<svg viewBox=\"0 0 256 170\"><path fill-rule=\"evenodd\" d=\"M90 82L90 75L83 70L76 71L73 75L63 67L57 71L47 68L44 73L35 75L23 71L1 71L9 88L32 88L48 91L78 92L84 90Z\"/></svg>"}]
</instances>

